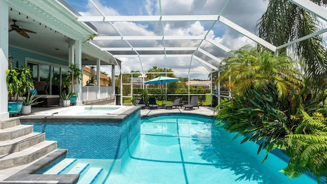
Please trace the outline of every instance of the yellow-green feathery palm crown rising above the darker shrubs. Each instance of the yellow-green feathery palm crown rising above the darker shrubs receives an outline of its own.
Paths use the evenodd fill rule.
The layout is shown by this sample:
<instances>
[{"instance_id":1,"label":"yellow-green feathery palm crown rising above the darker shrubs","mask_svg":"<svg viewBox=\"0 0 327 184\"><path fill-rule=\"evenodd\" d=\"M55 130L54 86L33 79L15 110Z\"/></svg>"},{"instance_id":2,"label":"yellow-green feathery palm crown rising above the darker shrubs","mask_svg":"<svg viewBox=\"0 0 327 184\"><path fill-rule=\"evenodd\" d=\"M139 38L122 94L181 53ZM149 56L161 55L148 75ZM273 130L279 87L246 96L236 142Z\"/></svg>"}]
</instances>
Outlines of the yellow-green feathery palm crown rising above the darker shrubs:
<instances>
[{"instance_id":1,"label":"yellow-green feathery palm crown rising above the darker shrubs","mask_svg":"<svg viewBox=\"0 0 327 184\"><path fill-rule=\"evenodd\" d=\"M260 52L250 45L237 51L221 62L220 77L215 81L227 81L233 95L243 95L249 88L264 90L269 86L276 88L278 97L286 97L295 86L302 87L297 62L285 54L274 56L268 51Z\"/></svg>"}]
</instances>

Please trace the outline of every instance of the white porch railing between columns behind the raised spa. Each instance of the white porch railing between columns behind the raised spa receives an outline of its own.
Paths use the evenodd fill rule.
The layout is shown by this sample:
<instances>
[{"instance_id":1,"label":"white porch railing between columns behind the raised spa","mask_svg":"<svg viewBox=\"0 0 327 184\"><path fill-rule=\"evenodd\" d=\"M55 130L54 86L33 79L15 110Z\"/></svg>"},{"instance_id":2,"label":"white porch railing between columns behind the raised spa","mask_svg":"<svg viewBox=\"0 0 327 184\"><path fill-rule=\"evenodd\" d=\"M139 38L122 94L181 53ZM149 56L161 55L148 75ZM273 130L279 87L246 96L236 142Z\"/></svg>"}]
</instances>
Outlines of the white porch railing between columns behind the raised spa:
<instances>
[{"instance_id":1,"label":"white porch railing between columns behind the raised spa","mask_svg":"<svg viewBox=\"0 0 327 184\"><path fill-rule=\"evenodd\" d=\"M113 86L82 86L82 101L114 97Z\"/></svg>"}]
</instances>

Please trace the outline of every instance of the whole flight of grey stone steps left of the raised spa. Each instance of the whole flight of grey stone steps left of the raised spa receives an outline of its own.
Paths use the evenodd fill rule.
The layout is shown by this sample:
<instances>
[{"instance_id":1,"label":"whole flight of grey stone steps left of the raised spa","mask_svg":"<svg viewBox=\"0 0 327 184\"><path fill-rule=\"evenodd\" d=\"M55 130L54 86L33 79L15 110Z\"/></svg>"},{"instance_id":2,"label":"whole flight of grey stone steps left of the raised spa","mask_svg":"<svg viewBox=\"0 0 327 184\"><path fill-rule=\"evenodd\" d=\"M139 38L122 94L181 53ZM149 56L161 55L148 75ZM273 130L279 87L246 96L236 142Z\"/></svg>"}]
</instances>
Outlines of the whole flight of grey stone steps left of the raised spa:
<instances>
[{"instance_id":1,"label":"whole flight of grey stone steps left of the raised spa","mask_svg":"<svg viewBox=\"0 0 327 184\"><path fill-rule=\"evenodd\" d=\"M69 177L37 174L65 157L66 153L66 149L57 149L56 141L45 141L44 133L33 132L33 125L21 125L19 118L0 122L0 181L2 182L76 183L80 176L78 174Z\"/></svg>"}]
</instances>

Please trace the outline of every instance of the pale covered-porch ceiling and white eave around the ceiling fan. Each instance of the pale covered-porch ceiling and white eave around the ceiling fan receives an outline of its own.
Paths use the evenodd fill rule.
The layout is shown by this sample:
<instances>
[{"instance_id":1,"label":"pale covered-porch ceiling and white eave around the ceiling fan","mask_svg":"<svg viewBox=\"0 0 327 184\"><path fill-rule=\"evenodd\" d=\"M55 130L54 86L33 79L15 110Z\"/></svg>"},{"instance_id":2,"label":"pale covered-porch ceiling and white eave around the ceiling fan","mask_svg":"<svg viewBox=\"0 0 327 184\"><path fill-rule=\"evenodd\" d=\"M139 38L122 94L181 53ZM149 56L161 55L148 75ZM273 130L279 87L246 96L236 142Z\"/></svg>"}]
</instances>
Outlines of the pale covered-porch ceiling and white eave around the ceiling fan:
<instances>
[{"instance_id":1,"label":"pale covered-porch ceiling and white eave around the ceiling fan","mask_svg":"<svg viewBox=\"0 0 327 184\"><path fill-rule=\"evenodd\" d=\"M62 4L52 1L8 1L9 28L15 24L19 28L36 32L27 33L30 38L19 35L15 31L9 32L9 45L13 48L30 50L34 53L51 56L68 62L68 47L74 40L85 41L89 35L96 34L97 30L92 25L77 22L77 12L67 10ZM64 12L66 13L58 13ZM71 14L71 16L67 16ZM77 13L78 14L78 13ZM65 15L65 16L64 16ZM82 43L82 65L96 65L97 57L101 64L115 64L110 54L101 51L93 43ZM15 58L14 58L15 59ZM68 65L68 64L67 64Z\"/></svg>"}]
</instances>

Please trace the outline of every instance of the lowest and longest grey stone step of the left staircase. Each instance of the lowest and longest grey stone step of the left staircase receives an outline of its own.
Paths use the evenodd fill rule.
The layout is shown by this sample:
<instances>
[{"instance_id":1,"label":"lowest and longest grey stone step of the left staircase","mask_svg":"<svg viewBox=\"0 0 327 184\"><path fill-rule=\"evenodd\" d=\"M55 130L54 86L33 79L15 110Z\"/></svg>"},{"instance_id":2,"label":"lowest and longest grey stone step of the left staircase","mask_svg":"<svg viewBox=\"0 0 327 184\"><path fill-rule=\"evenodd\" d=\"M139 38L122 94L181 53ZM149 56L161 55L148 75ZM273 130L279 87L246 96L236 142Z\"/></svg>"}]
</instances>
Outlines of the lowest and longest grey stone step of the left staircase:
<instances>
[{"instance_id":1,"label":"lowest and longest grey stone step of the left staircase","mask_svg":"<svg viewBox=\"0 0 327 184\"><path fill-rule=\"evenodd\" d=\"M0 170L29 164L55 149L57 149L56 141L43 141L15 153L0 155Z\"/></svg>"}]
</instances>

